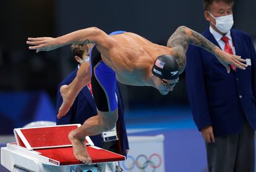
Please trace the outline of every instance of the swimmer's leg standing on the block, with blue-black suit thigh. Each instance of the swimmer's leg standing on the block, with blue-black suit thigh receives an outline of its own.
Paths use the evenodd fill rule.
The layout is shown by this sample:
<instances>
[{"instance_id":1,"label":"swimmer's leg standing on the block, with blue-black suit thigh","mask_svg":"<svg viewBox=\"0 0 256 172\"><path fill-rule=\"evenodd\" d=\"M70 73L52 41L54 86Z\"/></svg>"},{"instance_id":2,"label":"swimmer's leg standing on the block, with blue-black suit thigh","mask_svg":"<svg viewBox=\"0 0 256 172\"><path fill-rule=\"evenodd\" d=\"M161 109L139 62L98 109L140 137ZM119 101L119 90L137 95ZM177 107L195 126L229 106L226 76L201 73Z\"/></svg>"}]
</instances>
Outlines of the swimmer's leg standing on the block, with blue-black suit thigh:
<instances>
[{"instance_id":1,"label":"swimmer's leg standing on the block, with blue-black suit thigh","mask_svg":"<svg viewBox=\"0 0 256 172\"><path fill-rule=\"evenodd\" d=\"M69 134L75 158L88 164L92 160L84 144L85 136L93 136L113 129L118 118L115 93L116 73L105 65L96 48L92 49L91 64L93 69L91 78L93 98L98 109L98 115L89 118L80 128Z\"/></svg>"}]
</instances>

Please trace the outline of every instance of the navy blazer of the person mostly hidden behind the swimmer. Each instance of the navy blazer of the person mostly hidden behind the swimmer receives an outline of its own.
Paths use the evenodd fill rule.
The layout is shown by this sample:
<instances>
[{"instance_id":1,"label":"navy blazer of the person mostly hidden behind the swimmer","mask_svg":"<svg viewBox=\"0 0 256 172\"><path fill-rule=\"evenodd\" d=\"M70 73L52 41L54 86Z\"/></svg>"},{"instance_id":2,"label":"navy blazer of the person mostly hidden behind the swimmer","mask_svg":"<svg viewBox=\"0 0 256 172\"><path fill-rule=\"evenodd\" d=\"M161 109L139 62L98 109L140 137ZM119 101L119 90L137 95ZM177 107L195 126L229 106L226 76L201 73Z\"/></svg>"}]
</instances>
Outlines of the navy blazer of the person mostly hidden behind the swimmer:
<instances>
[{"instance_id":1,"label":"navy blazer of the person mostly hidden behind the swimmer","mask_svg":"<svg viewBox=\"0 0 256 172\"><path fill-rule=\"evenodd\" d=\"M77 69L78 70L78 69ZM70 73L69 76L67 76L58 86L57 91L57 104L56 104L56 113L58 113L59 107L61 107L62 104L62 97L61 93L59 92L59 89L64 84L70 84L75 76L77 75L77 70L74 70L72 73ZM126 133L126 125L124 123L124 104L122 102L122 96L121 92L119 91L118 85L116 87L116 94L118 99L118 120L117 120L117 135L119 137L119 141L121 143L121 153L122 155L126 156L126 149L129 149L128 145L128 139L127 139L127 133ZM85 86L82 91L79 92L77 95L74 104L70 108L69 112L67 112L67 115L56 119L57 125L66 125L66 124L75 124L80 123L81 125L85 120L87 120L90 117L93 117L97 115L96 105L93 100L92 94L90 90ZM101 137L101 134L96 136L90 136L93 143L98 146L102 147L103 139Z\"/></svg>"}]
</instances>

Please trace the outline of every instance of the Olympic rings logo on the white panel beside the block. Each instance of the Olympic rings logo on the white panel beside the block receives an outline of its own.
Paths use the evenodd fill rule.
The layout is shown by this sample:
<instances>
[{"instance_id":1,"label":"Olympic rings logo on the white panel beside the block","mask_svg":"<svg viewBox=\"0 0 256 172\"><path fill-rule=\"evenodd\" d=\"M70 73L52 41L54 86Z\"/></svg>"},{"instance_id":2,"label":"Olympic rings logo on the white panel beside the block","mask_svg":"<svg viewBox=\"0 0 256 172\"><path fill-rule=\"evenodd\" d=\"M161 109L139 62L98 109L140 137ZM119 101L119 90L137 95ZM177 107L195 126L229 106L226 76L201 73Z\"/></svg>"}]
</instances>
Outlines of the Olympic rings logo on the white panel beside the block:
<instances>
[{"instance_id":1,"label":"Olympic rings logo on the white panel beside the block","mask_svg":"<svg viewBox=\"0 0 256 172\"><path fill-rule=\"evenodd\" d=\"M151 167L153 172L156 170L156 168L161 166L162 162L163 160L159 154L151 154L150 157L141 154L136 158L127 155L126 161L122 162L122 167L128 171L132 171L132 169L134 169L136 166L141 172L144 172L146 171L146 168L148 169Z\"/></svg>"}]
</instances>

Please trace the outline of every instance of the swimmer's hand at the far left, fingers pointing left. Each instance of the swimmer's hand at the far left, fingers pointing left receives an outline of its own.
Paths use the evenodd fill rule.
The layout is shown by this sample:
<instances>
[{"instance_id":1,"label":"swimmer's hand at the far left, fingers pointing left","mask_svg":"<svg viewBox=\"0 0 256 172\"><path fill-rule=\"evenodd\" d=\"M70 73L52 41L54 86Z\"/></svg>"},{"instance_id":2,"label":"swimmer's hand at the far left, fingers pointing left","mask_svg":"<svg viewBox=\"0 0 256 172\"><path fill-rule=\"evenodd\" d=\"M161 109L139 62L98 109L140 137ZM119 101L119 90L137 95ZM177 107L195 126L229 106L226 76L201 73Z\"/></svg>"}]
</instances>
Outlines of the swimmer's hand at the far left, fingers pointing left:
<instances>
[{"instance_id":1,"label":"swimmer's hand at the far left, fingers pointing left","mask_svg":"<svg viewBox=\"0 0 256 172\"><path fill-rule=\"evenodd\" d=\"M40 51L51 51L61 47L61 44L56 38L51 37L40 37L40 38L28 38L27 44L29 49L36 49L36 52Z\"/></svg>"}]
</instances>

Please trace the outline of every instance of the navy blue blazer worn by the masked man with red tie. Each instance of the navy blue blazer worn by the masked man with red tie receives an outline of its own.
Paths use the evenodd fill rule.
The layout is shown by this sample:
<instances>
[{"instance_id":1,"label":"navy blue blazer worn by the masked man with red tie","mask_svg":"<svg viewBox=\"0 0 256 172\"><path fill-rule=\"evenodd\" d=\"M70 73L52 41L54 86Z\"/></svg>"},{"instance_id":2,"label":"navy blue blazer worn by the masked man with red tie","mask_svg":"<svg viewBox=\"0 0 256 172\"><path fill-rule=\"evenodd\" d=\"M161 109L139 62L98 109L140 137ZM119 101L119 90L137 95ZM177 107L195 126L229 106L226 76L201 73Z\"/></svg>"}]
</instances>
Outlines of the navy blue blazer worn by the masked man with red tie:
<instances>
[{"instance_id":1,"label":"navy blue blazer worn by the masked man with red tie","mask_svg":"<svg viewBox=\"0 0 256 172\"><path fill-rule=\"evenodd\" d=\"M202 35L219 46L209 29ZM251 60L245 70L237 68L228 74L210 52L193 45L187 51L187 94L195 124L199 130L212 125L216 136L239 133L245 118L256 129L254 44L242 31L231 30L231 36L236 55Z\"/></svg>"}]
</instances>

